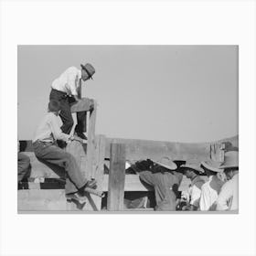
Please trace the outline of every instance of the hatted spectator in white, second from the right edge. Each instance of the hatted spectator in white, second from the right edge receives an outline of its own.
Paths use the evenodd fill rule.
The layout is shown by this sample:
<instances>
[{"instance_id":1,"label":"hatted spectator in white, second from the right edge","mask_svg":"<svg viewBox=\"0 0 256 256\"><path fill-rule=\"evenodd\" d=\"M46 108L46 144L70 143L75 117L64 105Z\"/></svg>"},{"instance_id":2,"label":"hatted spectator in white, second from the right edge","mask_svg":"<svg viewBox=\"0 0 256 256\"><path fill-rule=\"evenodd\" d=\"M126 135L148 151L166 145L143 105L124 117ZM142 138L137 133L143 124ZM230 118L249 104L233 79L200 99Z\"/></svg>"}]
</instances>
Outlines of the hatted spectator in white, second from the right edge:
<instances>
[{"instance_id":1,"label":"hatted spectator in white, second from the right edge","mask_svg":"<svg viewBox=\"0 0 256 256\"><path fill-rule=\"evenodd\" d=\"M216 210L220 189L226 181L226 176L223 170L219 169L219 166L219 162L212 161L211 159L201 163L201 167L208 176L208 181L201 189L200 210Z\"/></svg>"}]
</instances>

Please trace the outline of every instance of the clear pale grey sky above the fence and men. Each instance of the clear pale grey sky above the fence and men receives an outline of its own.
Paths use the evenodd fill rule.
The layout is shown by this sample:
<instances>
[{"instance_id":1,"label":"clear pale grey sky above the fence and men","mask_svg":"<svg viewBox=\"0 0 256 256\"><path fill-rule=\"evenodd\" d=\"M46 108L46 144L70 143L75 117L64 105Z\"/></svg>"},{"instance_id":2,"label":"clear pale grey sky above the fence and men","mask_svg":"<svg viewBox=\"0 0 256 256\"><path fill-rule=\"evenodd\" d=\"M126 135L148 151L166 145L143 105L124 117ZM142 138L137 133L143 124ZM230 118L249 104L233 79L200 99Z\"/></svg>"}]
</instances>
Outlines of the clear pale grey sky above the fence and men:
<instances>
[{"instance_id":1,"label":"clear pale grey sky above the fence and men","mask_svg":"<svg viewBox=\"0 0 256 256\"><path fill-rule=\"evenodd\" d=\"M50 85L91 63L82 96L98 102L96 133L180 143L238 134L238 46L18 46L18 138L33 139Z\"/></svg>"}]
</instances>

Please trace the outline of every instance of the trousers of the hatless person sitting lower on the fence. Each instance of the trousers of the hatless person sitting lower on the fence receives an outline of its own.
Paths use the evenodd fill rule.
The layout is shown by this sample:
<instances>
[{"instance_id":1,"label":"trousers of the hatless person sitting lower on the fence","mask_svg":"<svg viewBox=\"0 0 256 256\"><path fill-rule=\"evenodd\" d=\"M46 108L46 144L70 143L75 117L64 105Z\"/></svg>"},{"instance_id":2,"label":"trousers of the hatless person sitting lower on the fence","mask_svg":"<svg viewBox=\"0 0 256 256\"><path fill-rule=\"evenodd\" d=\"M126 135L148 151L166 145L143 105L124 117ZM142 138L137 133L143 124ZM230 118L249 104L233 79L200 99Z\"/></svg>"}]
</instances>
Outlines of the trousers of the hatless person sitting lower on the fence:
<instances>
[{"instance_id":1,"label":"trousers of the hatless person sitting lower on the fence","mask_svg":"<svg viewBox=\"0 0 256 256\"><path fill-rule=\"evenodd\" d=\"M80 167L75 157L54 144L41 142L33 143L35 155L39 160L58 165L66 171L66 194L80 191L87 183L87 179L82 176Z\"/></svg>"}]
</instances>

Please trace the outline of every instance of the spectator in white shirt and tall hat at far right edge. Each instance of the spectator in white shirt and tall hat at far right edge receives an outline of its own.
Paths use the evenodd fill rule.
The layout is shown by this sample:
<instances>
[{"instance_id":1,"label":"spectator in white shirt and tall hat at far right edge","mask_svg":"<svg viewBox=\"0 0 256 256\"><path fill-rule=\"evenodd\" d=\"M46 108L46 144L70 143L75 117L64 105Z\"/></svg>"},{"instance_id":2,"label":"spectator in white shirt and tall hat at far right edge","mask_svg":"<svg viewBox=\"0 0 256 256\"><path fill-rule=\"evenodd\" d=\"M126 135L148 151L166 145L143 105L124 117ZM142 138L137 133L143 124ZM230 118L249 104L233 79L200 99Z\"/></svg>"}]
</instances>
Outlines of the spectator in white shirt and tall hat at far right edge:
<instances>
[{"instance_id":1,"label":"spectator in white shirt and tall hat at far right edge","mask_svg":"<svg viewBox=\"0 0 256 256\"><path fill-rule=\"evenodd\" d=\"M239 209L239 153L229 151L224 155L224 162L220 165L224 169L228 181L221 187L217 199L217 210Z\"/></svg>"}]
</instances>

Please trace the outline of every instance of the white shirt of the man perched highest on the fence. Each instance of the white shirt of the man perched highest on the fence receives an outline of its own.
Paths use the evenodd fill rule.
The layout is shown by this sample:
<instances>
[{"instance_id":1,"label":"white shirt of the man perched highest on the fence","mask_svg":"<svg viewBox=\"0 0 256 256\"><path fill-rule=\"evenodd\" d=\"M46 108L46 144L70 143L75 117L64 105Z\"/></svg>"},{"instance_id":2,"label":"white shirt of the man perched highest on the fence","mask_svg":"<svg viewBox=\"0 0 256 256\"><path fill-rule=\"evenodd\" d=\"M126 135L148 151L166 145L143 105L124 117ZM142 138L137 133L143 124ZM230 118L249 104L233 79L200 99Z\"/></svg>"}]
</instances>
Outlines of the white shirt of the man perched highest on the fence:
<instances>
[{"instance_id":1,"label":"white shirt of the man perched highest on the fence","mask_svg":"<svg viewBox=\"0 0 256 256\"><path fill-rule=\"evenodd\" d=\"M54 80L51 88L66 92L69 95L78 95L78 88L80 87L81 71L76 67L70 67L65 70L58 79Z\"/></svg>"}]
</instances>

